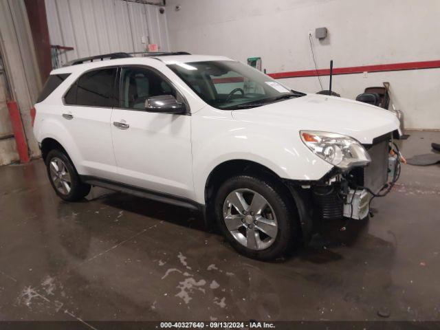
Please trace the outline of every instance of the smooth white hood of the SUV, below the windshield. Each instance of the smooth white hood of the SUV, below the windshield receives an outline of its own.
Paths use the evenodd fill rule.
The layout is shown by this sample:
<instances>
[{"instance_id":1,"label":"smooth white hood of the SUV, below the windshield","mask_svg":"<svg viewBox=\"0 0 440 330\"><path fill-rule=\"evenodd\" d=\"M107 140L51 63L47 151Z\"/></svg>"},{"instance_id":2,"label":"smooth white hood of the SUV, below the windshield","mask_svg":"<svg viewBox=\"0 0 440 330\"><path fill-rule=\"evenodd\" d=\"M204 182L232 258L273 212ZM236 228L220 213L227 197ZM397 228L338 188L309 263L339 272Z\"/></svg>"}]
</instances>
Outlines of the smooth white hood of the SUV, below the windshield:
<instances>
[{"instance_id":1,"label":"smooth white hood of the SUV, below the windshield","mask_svg":"<svg viewBox=\"0 0 440 330\"><path fill-rule=\"evenodd\" d=\"M399 120L391 111L371 104L335 96L307 94L281 102L232 111L235 120L296 131L325 131L354 137L371 144L375 137L399 129Z\"/></svg>"}]
</instances>

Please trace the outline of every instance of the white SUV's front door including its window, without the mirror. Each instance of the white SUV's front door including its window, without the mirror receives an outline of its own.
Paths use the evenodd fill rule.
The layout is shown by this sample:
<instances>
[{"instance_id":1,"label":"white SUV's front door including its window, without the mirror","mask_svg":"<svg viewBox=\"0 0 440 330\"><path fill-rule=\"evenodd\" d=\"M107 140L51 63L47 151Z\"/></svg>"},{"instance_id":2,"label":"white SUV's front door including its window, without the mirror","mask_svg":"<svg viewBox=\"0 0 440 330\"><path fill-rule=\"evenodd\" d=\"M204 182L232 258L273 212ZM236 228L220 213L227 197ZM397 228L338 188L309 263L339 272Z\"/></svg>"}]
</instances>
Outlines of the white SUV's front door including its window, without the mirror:
<instances>
[{"instance_id":1,"label":"white SUV's front door including its window, without the mirror","mask_svg":"<svg viewBox=\"0 0 440 330\"><path fill-rule=\"evenodd\" d=\"M173 95L179 100L179 92L149 67L122 67L120 77L120 106L111 115L120 181L192 198L190 115L145 111L147 98Z\"/></svg>"}]
</instances>

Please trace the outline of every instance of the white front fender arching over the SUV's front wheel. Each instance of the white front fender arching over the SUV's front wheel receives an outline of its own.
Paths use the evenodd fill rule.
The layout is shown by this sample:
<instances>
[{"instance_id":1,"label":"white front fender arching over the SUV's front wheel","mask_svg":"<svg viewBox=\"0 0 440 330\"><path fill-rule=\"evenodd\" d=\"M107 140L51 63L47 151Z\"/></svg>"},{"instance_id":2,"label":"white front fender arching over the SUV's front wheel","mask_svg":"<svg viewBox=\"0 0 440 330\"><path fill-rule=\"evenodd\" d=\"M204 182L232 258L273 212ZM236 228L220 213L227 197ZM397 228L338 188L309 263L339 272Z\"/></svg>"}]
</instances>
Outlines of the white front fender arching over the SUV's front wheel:
<instances>
[{"instance_id":1,"label":"white front fender arching over the SUV's front wheel","mask_svg":"<svg viewBox=\"0 0 440 330\"><path fill-rule=\"evenodd\" d=\"M228 160L259 163L285 179L317 180L333 166L309 151L298 131L234 119L236 111L205 107L192 115L192 161L197 201L211 171Z\"/></svg>"}]
</instances>

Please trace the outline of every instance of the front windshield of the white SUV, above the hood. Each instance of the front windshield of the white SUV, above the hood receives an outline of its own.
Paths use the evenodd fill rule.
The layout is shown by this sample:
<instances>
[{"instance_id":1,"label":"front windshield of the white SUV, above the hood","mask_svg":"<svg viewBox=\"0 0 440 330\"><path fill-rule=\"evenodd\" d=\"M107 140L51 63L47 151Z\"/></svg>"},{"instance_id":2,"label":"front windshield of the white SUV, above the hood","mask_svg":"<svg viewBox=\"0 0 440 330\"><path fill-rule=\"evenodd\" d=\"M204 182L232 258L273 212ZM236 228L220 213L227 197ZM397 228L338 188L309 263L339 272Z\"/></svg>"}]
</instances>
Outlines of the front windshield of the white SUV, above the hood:
<instances>
[{"instance_id":1,"label":"front windshield of the white SUV, above the hood","mask_svg":"<svg viewBox=\"0 0 440 330\"><path fill-rule=\"evenodd\" d=\"M236 61L175 63L168 67L206 103L217 109L245 109L304 96Z\"/></svg>"}]
</instances>

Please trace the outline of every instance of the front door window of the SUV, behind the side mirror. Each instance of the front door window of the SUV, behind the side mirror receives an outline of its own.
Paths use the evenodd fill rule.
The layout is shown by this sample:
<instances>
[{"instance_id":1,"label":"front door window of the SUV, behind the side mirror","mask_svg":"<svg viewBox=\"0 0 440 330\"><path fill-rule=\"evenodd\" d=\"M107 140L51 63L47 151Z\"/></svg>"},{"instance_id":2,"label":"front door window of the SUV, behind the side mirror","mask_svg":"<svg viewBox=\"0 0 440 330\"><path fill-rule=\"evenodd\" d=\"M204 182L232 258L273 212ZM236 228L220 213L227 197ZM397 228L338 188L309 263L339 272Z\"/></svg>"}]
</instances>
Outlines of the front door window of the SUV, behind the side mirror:
<instances>
[{"instance_id":1,"label":"front door window of the SUV, behind the side mirror","mask_svg":"<svg viewBox=\"0 0 440 330\"><path fill-rule=\"evenodd\" d=\"M161 95L176 97L175 89L164 78L142 67L122 69L121 107L144 109L147 98Z\"/></svg>"}]
</instances>

